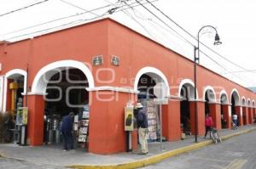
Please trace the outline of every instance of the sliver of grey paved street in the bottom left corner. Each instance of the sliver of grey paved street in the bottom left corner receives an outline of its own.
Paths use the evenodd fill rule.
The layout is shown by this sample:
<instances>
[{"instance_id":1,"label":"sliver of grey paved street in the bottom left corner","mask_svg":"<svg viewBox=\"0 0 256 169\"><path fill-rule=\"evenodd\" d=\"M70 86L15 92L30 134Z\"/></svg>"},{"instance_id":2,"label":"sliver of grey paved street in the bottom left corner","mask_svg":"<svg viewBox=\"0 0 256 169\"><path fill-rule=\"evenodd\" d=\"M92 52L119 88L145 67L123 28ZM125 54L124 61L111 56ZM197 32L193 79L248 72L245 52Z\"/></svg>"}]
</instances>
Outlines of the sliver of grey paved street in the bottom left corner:
<instances>
[{"instance_id":1,"label":"sliver of grey paved street in the bottom left corner","mask_svg":"<svg viewBox=\"0 0 256 169\"><path fill-rule=\"evenodd\" d=\"M26 161L16 161L12 159L0 158L0 168L1 169L27 169L27 168L37 168L37 169L61 169L64 167L50 166L47 164L34 164Z\"/></svg>"}]
</instances>

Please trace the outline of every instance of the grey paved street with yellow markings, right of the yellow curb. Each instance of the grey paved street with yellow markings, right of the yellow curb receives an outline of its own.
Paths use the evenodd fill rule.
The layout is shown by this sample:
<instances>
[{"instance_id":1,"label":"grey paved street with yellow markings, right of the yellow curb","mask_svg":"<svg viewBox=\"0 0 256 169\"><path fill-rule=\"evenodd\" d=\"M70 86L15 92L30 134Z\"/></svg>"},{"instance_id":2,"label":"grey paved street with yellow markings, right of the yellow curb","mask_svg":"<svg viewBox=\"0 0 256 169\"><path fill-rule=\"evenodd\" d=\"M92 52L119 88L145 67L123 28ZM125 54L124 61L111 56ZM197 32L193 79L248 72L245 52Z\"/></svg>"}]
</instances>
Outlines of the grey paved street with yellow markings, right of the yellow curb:
<instances>
[{"instance_id":1,"label":"grey paved street with yellow markings, right of the yellow curb","mask_svg":"<svg viewBox=\"0 0 256 169\"><path fill-rule=\"evenodd\" d=\"M255 169L256 131L212 144L185 155L178 155L158 164L143 167L175 169Z\"/></svg>"}]
</instances>

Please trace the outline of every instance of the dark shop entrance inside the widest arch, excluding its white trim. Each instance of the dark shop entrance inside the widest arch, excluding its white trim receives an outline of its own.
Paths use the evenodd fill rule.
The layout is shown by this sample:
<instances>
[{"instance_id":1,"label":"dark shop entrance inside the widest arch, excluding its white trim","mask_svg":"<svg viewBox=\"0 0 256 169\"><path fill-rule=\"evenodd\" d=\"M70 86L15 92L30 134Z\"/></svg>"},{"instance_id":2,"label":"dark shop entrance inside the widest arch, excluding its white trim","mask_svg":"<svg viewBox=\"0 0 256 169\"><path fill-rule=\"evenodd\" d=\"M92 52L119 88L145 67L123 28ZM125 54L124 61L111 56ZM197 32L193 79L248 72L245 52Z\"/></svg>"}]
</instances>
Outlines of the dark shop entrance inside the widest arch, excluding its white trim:
<instances>
[{"instance_id":1,"label":"dark shop entrance inside the widest arch, excluding its white trim","mask_svg":"<svg viewBox=\"0 0 256 169\"><path fill-rule=\"evenodd\" d=\"M84 112L89 118L87 78L79 69L55 70L46 87L44 107L44 144L61 144L61 119L74 113L73 140L79 141ZM89 119L88 119L89 120ZM84 141L83 141L84 142Z\"/></svg>"}]
</instances>

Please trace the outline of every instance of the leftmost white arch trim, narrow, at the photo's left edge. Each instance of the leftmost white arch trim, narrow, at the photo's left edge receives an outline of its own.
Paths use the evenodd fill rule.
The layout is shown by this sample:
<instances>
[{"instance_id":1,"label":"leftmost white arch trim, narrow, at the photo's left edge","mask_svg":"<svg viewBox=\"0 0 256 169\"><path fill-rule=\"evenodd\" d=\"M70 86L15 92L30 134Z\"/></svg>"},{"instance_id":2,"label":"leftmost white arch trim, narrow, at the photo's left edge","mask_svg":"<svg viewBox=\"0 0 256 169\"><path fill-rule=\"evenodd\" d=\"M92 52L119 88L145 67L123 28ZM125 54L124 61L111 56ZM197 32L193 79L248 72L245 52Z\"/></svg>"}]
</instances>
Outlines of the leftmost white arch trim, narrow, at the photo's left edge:
<instances>
[{"instance_id":1,"label":"leftmost white arch trim, narrow, at the photo's left edge","mask_svg":"<svg viewBox=\"0 0 256 169\"><path fill-rule=\"evenodd\" d=\"M23 93L26 93L26 70L14 69L9 70L4 76L4 84L3 84L3 111L6 111L6 102L7 102L7 81L8 79L15 79L18 76L24 76L24 86Z\"/></svg>"}]
</instances>

